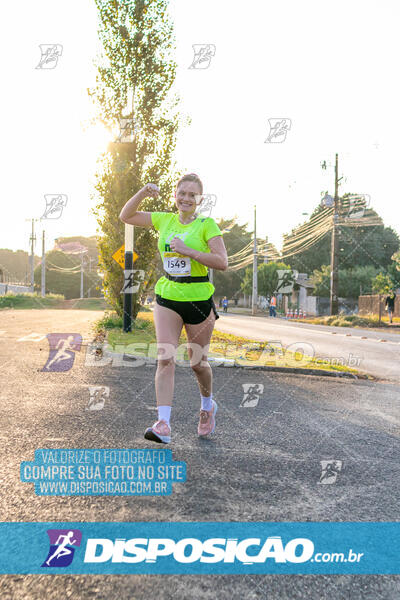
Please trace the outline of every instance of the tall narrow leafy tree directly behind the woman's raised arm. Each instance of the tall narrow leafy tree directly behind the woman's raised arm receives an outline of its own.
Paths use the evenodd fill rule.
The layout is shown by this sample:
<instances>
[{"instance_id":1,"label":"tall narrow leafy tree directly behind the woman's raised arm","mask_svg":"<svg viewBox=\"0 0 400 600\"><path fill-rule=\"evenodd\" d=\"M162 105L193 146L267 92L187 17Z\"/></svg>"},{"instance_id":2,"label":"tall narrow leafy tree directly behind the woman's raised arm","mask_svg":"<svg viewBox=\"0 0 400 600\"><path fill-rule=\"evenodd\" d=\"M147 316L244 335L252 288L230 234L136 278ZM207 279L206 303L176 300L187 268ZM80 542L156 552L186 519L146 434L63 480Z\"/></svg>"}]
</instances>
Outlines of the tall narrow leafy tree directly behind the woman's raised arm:
<instances>
[{"instance_id":1,"label":"tall narrow leafy tree directly behind the woman's raised arm","mask_svg":"<svg viewBox=\"0 0 400 600\"><path fill-rule=\"evenodd\" d=\"M94 213L100 226L99 265L108 302L122 314L123 271L112 254L124 242L122 206L146 183L160 188L158 199L147 199L140 209L169 209L174 181L172 163L179 118L178 98L171 93L176 63L171 58L173 31L167 0L95 0L103 54L98 59L96 86L88 89L97 107L97 119L108 128L123 123L118 141L102 156L95 189L99 199ZM124 120L122 120L124 119ZM127 140L128 136L128 141ZM146 272L143 296L154 283L155 232L135 228L135 269ZM139 309L133 303L133 317Z\"/></svg>"}]
</instances>

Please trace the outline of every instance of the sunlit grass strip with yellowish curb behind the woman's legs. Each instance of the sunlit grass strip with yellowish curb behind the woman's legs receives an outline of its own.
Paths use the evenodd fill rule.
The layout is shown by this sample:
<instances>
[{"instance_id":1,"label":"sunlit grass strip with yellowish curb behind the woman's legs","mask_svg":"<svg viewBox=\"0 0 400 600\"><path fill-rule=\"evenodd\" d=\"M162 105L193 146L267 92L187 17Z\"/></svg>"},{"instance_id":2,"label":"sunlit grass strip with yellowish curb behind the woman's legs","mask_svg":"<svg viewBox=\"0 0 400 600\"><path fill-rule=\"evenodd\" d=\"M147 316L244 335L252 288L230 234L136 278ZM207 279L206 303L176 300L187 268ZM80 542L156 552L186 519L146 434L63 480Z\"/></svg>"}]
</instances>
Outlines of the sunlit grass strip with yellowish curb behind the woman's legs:
<instances>
[{"instance_id":1,"label":"sunlit grass strip with yellowish curb behind the woman's legs","mask_svg":"<svg viewBox=\"0 0 400 600\"><path fill-rule=\"evenodd\" d=\"M115 313L106 313L102 319L95 324L97 332L107 332L107 341L110 349L116 352L130 352L149 355L148 349L135 347L136 344L156 344L156 334L153 322L153 314L139 312L133 323L132 332L122 331L122 317ZM183 329L179 344L187 342L186 332ZM129 348L128 346L131 346ZM151 356L154 358L154 348ZM268 342L257 342L246 337L236 336L214 330L209 349L212 358L227 358L236 360L242 366L280 366L292 368L318 369L324 371L341 371L356 374L357 371L344 364L337 364L339 360L331 358L318 358L303 355L302 352L286 352L277 344ZM180 354L180 360L187 360L187 352ZM335 364L336 362L336 364Z\"/></svg>"}]
</instances>

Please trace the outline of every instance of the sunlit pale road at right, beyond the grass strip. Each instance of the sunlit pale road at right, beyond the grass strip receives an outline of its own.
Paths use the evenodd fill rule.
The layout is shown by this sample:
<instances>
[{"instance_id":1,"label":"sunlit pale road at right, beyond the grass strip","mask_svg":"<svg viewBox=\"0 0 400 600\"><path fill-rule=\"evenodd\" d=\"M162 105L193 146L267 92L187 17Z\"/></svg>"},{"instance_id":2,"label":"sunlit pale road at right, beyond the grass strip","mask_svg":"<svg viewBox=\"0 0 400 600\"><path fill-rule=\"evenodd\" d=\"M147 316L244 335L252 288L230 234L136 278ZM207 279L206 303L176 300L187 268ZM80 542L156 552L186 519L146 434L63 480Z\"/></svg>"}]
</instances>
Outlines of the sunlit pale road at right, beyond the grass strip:
<instances>
[{"instance_id":1,"label":"sunlit pale road at right, beyond the grass strip","mask_svg":"<svg viewBox=\"0 0 400 600\"><path fill-rule=\"evenodd\" d=\"M216 329L258 341L309 344L314 356L330 358L379 378L400 382L400 334L355 327L327 327L279 318L219 313ZM384 340L384 341L381 341ZM308 354L308 349L307 349Z\"/></svg>"}]
</instances>

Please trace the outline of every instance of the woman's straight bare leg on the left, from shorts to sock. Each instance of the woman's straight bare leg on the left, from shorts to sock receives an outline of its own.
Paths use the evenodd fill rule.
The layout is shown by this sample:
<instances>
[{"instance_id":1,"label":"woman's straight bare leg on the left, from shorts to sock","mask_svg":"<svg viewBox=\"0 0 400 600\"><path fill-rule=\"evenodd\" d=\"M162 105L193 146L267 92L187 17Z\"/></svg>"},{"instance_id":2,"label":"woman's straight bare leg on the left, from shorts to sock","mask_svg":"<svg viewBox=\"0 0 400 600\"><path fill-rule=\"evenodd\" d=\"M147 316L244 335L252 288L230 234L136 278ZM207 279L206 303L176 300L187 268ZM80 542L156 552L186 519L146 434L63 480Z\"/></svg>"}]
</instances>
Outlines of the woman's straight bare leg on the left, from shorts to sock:
<instances>
[{"instance_id":1,"label":"woman's straight bare leg on the left, from shorts to sock","mask_svg":"<svg viewBox=\"0 0 400 600\"><path fill-rule=\"evenodd\" d=\"M157 406L172 406L175 383L175 356L182 331L182 318L174 310L155 304L154 324L157 335ZM164 356L165 358L162 358Z\"/></svg>"}]
</instances>

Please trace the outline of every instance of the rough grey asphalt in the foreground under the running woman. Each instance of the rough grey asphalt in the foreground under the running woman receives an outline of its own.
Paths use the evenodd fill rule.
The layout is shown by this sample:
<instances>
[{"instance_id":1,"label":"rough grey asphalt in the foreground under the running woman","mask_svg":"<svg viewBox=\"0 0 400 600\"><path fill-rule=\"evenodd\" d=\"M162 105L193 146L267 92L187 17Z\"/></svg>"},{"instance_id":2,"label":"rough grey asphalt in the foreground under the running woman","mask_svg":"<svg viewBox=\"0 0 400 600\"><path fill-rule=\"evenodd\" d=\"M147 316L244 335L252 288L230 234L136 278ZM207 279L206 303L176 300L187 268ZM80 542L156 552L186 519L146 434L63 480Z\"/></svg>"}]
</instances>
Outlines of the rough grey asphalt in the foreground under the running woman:
<instances>
[{"instance_id":1,"label":"rough grey asphalt in the foreground under the running woman","mask_svg":"<svg viewBox=\"0 0 400 600\"><path fill-rule=\"evenodd\" d=\"M80 332L98 314L1 311L0 464L3 521L397 521L400 387L296 374L214 368L219 404L209 440L196 434L199 397L191 371L177 367L174 459L187 481L167 497L39 497L19 480L36 448L150 448L156 420L153 366L88 367L46 373L47 340L34 332ZM228 321L230 317L226 318ZM224 318L225 320L225 318ZM234 319L231 319L234 322ZM222 322L222 319L221 319ZM332 336L333 337L333 336ZM257 406L241 407L242 385L258 383ZM104 385L104 409L86 410L88 387ZM320 461L342 461L333 485L319 485ZM388 600L400 576L16 576L0 578L3 600L30 598Z\"/></svg>"}]
</instances>

